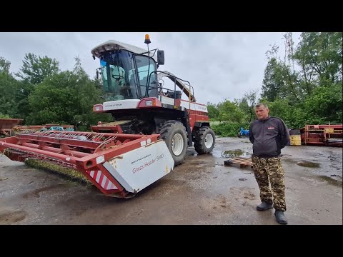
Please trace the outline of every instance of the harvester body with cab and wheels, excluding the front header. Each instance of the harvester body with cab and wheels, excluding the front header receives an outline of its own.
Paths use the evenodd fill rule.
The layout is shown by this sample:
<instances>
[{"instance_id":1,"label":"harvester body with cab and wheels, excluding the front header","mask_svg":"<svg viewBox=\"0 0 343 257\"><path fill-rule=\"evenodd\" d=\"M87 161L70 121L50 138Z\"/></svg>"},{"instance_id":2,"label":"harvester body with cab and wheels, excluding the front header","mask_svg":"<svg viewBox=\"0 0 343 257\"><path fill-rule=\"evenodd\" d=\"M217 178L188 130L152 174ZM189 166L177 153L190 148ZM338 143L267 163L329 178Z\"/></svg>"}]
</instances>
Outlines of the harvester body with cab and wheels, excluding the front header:
<instances>
[{"instance_id":1,"label":"harvester body with cab and wheels, excluding the front header","mask_svg":"<svg viewBox=\"0 0 343 257\"><path fill-rule=\"evenodd\" d=\"M114 118L111 126L93 126L93 131L160 134L176 166L184 161L187 146L194 145L198 154L210 153L215 136L207 106L196 102L189 81L158 71L164 64L164 51L149 51L149 35L144 43L147 50L113 40L91 50L93 59L100 61L97 75L101 75L104 92L104 102L93 110L109 112ZM159 82L164 77L174 82L174 89L164 88Z\"/></svg>"}]
</instances>

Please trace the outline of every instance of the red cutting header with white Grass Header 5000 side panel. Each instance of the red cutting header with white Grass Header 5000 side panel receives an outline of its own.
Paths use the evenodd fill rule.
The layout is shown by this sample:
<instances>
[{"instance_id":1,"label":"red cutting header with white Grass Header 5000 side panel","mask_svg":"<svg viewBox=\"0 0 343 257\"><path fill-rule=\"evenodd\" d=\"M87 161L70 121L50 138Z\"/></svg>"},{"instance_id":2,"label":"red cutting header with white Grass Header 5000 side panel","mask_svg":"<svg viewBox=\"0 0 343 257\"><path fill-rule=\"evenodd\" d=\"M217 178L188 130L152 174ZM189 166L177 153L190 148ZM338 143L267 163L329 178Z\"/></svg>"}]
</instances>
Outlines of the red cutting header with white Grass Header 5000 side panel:
<instances>
[{"instance_id":1,"label":"red cutting header with white Grass Header 5000 side panel","mask_svg":"<svg viewBox=\"0 0 343 257\"><path fill-rule=\"evenodd\" d=\"M36 158L72 168L105 195L129 198L174 168L158 136L44 131L1 138L0 152L13 161Z\"/></svg>"}]
</instances>

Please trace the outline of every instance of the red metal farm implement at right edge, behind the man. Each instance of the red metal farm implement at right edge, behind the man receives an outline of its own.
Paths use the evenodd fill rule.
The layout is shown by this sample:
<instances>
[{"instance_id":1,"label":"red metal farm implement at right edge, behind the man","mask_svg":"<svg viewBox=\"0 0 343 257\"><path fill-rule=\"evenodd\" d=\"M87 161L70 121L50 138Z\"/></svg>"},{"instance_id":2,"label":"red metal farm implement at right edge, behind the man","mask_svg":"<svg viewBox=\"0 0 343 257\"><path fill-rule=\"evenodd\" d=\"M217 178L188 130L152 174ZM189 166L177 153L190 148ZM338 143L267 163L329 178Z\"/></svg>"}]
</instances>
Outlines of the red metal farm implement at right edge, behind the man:
<instances>
[{"instance_id":1,"label":"red metal farm implement at right edge, behind the man","mask_svg":"<svg viewBox=\"0 0 343 257\"><path fill-rule=\"evenodd\" d=\"M342 146L342 124L305 125L300 129L304 145Z\"/></svg>"}]
</instances>

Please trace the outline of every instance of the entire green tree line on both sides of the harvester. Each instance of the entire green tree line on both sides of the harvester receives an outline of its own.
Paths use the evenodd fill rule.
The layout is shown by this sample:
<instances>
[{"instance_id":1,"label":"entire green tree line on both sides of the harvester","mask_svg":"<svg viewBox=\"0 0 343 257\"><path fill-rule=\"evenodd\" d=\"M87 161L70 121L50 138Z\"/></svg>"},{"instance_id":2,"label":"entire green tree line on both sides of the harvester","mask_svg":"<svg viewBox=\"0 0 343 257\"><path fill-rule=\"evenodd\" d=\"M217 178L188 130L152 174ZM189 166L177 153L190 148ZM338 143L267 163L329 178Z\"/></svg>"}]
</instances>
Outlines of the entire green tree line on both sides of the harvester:
<instances>
[{"instance_id":1,"label":"entire green tree line on both sides of the harvester","mask_svg":"<svg viewBox=\"0 0 343 257\"><path fill-rule=\"evenodd\" d=\"M236 136L241 126L249 129L254 105L261 101L292 129L342 124L342 32L304 32L292 49L284 58L277 45L267 51L261 89L247 91L242 99L207 103L217 135ZM76 129L111 121L109 114L93 113L92 106L101 103L101 84L89 78L78 57L72 71L61 71L56 59L31 53L16 74L10 66L0 56L0 117L24 119L27 125L73 124Z\"/></svg>"}]
</instances>

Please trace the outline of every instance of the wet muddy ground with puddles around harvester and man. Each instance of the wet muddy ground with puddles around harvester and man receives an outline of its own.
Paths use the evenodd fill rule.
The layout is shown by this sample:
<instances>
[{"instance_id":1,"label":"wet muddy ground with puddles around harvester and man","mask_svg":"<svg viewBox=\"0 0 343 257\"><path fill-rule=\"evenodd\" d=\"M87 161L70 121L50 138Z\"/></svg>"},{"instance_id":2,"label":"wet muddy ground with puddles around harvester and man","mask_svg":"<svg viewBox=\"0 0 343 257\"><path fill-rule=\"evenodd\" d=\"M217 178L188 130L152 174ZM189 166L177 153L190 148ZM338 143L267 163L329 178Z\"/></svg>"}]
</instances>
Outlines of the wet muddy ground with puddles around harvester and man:
<instances>
[{"instance_id":1,"label":"wet muddy ground with puddles around harvester and man","mask_svg":"<svg viewBox=\"0 0 343 257\"><path fill-rule=\"evenodd\" d=\"M111 198L51 172L0 156L0 224L270 224L256 211L252 168L224 166L250 156L247 138L217 138L212 154L187 161L134 198ZM289 224L342 225L342 147L287 146L282 151Z\"/></svg>"}]
</instances>

